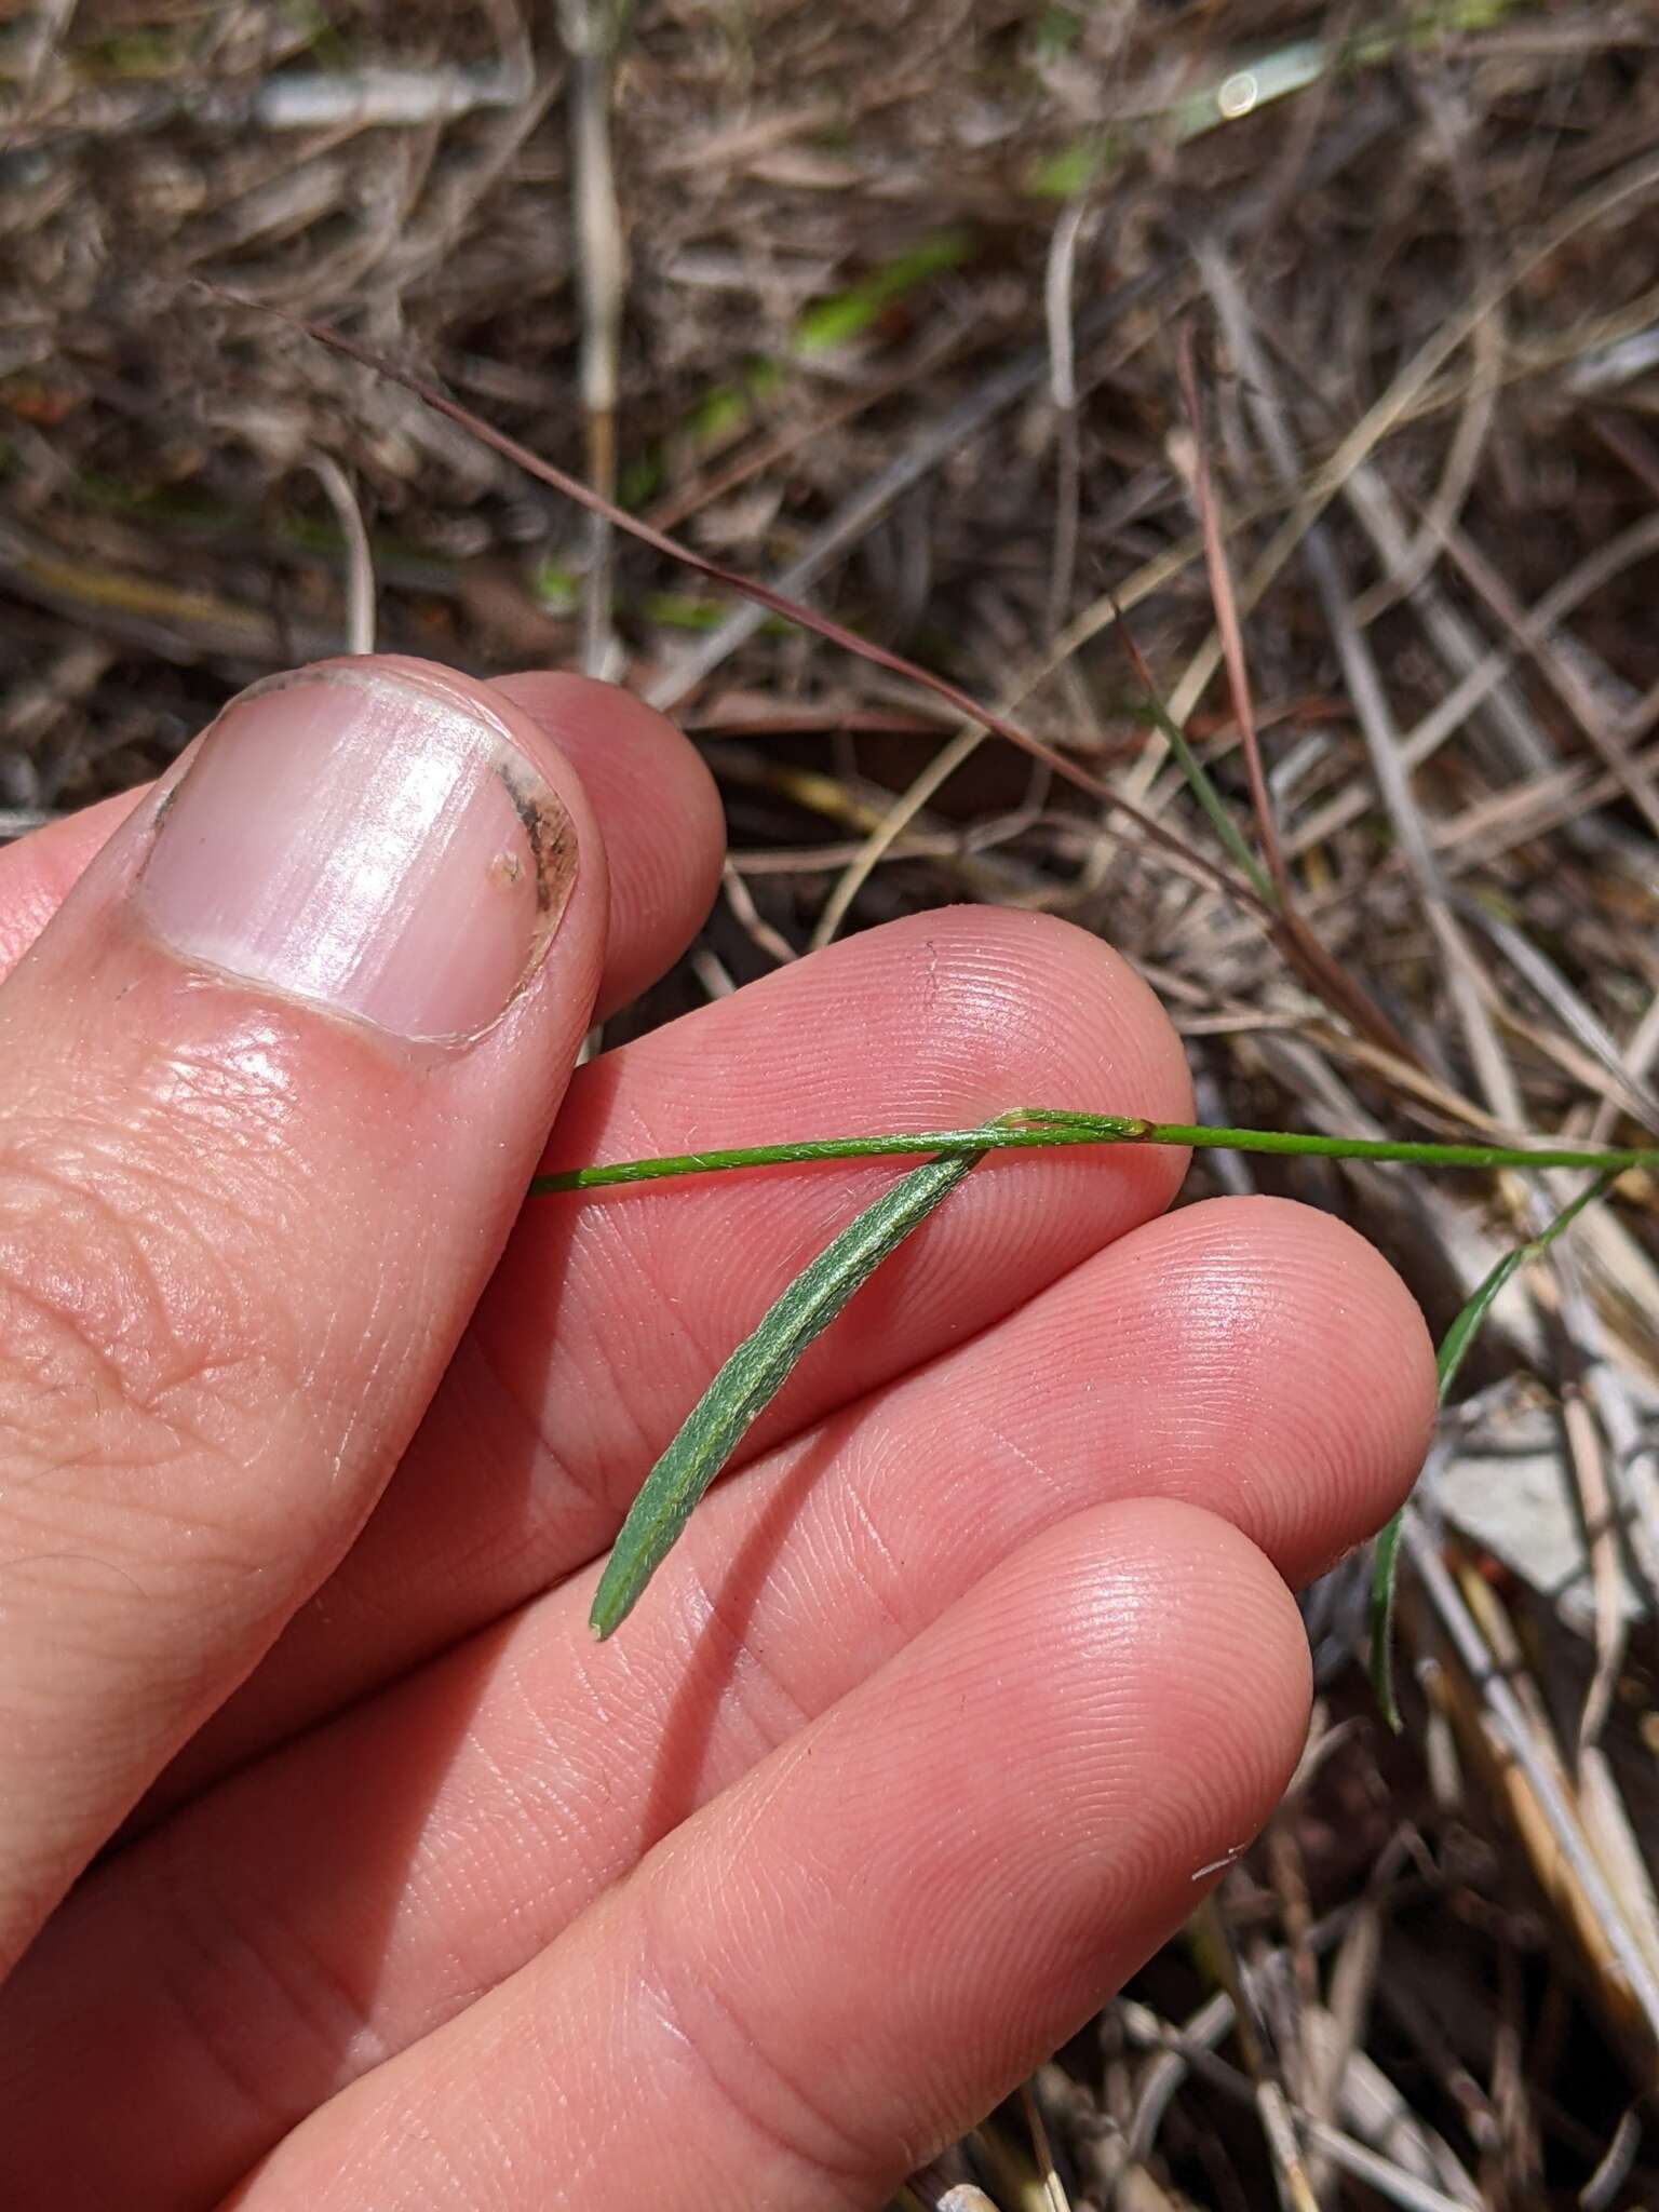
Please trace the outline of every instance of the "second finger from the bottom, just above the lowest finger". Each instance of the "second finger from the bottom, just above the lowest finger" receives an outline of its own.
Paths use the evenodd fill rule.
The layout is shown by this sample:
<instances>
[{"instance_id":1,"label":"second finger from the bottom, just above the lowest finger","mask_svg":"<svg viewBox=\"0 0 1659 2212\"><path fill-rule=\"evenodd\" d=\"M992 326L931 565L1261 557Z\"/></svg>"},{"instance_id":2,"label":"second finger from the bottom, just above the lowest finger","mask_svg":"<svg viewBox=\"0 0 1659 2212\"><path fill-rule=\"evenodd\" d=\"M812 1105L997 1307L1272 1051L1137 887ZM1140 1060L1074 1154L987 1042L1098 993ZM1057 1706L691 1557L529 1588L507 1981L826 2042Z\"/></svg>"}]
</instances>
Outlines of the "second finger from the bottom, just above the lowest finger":
<instances>
[{"instance_id":1,"label":"second finger from the bottom, just above the lowest finger","mask_svg":"<svg viewBox=\"0 0 1659 2212\"><path fill-rule=\"evenodd\" d=\"M1042 1531L1179 1498L1303 1579L1391 1509L1431 1416L1422 1321L1340 1223L1279 1201L1150 1223L714 1493L602 1652L584 1575L111 1865L11 1993L9 2106L97 2099L86 2203L115 2174L142 2203L190 2128L217 2188ZM257 2110L226 2110L228 2059Z\"/></svg>"}]
</instances>

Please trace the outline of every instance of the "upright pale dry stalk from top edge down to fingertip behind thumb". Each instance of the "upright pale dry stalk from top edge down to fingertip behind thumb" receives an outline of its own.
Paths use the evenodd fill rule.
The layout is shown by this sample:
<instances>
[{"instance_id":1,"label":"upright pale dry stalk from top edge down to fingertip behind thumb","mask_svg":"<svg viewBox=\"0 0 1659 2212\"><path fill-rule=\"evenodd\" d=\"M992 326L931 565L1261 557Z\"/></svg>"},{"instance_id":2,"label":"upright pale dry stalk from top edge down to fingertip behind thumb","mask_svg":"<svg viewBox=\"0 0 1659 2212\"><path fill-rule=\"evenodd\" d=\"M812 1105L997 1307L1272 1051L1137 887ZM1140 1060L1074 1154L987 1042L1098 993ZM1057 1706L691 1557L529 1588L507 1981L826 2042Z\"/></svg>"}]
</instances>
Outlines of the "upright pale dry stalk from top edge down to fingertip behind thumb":
<instances>
[{"instance_id":1,"label":"upright pale dry stalk from top edge down to fingertip behind thumb","mask_svg":"<svg viewBox=\"0 0 1659 2212\"><path fill-rule=\"evenodd\" d=\"M615 498L617 489L617 352L628 263L611 146L611 88L630 9L633 0L560 0L560 33L571 55L566 97L582 299L582 414L588 482L606 500ZM591 677L622 672L622 650L611 619L613 597L615 535L608 515L591 509L588 573L582 595L582 668Z\"/></svg>"}]
</instances>

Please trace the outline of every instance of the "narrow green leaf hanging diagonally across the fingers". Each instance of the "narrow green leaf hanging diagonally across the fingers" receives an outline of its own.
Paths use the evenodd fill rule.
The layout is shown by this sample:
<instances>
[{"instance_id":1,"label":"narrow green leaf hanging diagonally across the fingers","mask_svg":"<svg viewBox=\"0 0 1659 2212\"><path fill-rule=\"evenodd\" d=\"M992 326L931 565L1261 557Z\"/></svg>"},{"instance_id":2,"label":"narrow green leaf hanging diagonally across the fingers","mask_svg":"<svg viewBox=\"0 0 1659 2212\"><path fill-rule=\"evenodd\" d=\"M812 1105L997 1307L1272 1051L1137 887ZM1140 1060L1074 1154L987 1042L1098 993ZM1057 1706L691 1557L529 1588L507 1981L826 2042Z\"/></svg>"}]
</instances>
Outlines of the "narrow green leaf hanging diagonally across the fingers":
<instances>
[{"instance_id":1,"label":"narrow green leaf hanging diagonally across the fingers","mask_svg":"<svg viewBox=\"0 0 1659 2212\"><path fill-rule=\"evenodd\" d=\"M608 1637L633 1613L692 1506L737 1451L750 1422L783 1389L807 1345L982 1157L984 1152L958 1152L929 1159L885 1190L801 1270L759 1329L726 1360L628 1509L593 1597L588 1626L595 1637Z\"/></svg>"}]
</instances>

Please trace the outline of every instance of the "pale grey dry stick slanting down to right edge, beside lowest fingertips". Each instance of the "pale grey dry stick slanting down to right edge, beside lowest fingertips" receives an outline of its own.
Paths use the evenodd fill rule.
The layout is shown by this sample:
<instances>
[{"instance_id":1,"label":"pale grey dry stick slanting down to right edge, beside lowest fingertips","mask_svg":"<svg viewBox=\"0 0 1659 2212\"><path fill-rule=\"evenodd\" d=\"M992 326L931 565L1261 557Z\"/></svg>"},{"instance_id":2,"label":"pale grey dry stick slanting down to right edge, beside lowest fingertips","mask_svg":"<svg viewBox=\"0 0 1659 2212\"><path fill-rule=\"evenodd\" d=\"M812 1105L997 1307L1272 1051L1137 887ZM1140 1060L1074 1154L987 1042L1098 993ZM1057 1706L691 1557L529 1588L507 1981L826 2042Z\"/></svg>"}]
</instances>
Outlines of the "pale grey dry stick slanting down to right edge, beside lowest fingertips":
<instances>
[{"instance_id":1,"label":"pale grey dry stick slanting down to right edge, beside lowest fingertips","mask_svg":"<svg viewBox=\"0 0 1659 2212\"><path fill-rule=\"evenodd\" d=\"M1458 1659L1469 1679L1480 1688L1484 1705L1482 1728L1500 1765L1509 1761L1524 1776L1548 1838L1559 1851L1562 1865L1571 1871L1586 1907L1593 1911L1595 1924L1608 1944L1608 1955L1617 1964L1648 2035L1659 2042L1659 1971L1648 1964L1641 1944L1626 1927L1613 1887L1571 1805L1559 1763L1553 1750L1544 1750L1537 1732L1528 1725L1513 1683L1475 1626L1475 1617L1464 1604L1416 1506L1407 1506L1405 1513L1405 1548L1418 1571L1418 1582L1451 1637Z\"/></svg>"}]
</instances>

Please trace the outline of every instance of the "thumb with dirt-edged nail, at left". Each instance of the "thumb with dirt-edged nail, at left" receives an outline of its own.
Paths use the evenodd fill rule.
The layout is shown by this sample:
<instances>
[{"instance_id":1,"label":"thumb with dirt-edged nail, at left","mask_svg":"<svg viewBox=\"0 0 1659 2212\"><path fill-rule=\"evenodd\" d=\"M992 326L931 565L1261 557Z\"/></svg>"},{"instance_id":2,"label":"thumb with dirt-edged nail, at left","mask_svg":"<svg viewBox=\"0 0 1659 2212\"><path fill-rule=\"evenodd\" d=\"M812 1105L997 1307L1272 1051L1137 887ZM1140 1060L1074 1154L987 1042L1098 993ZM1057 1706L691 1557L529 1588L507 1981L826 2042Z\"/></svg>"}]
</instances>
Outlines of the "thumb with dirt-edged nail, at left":
<instances>
[{"instance_id":1,"label":"thumb with dirt-edged nail, at left","mask_svg":"<svg viewBox=\"0 0 1659 2212\"><path fill-rule=\"evenodd\" d=\"M374 1504L604 933L538 726L334 661L232 701L0 989L0 1973Z\"/></svg>"}]
</instances>

